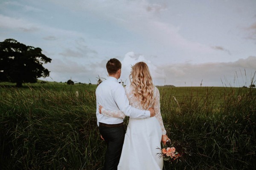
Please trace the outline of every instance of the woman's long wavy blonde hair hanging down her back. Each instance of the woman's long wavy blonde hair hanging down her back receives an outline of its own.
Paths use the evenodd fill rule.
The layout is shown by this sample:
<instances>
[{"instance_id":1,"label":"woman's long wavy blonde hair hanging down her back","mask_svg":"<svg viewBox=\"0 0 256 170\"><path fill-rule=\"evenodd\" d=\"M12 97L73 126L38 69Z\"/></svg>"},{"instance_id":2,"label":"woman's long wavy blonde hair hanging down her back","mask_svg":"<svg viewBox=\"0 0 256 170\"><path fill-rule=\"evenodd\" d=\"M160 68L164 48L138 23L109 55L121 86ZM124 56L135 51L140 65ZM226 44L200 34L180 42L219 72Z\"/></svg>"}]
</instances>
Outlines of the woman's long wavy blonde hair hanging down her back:
<instances>
[{"instance_id":1,"label":"woman's long wavy blonde hair hanging down her back","mask_svg":"<svg viewBox=\"0 0 256 170\"><path fill-rule=\"evenodd\" d=\"M148 65L144 62L136 63L131 67L129 79L133 89L132 93L139 99L143 109L148 109L154 102L154 85Z\"/></svg>"}]
</instances>

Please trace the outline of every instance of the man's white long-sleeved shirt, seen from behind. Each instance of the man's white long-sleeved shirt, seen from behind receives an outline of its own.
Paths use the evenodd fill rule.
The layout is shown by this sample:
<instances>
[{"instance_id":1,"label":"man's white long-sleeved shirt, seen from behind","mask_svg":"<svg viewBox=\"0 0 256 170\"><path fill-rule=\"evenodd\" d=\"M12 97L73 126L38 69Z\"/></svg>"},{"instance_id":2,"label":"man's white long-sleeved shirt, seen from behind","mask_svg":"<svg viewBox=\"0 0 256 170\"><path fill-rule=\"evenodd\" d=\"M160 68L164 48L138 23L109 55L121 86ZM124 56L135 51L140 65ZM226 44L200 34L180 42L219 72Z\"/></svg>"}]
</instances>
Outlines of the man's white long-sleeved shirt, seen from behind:
<instances>
[{"instance_id":1,"label":"man's white long-sleeved shirt, seen from behind","mask_svg":"<svg viewBox=\"0 0 256 170\"><path fill-rule=\"evenodd\" d=\"M125 94L125 89L122 84L117 82L117 79L109 76L96 89L96 116L97 124L99 122L105 124L119 124L123 122L122 118L113 118L99 113L99 104L106 110L119 111L121 110L126 116L131 118L149 118L148 110L140 110L129 105L128 98Z\"/></svg>"}]
</instances>

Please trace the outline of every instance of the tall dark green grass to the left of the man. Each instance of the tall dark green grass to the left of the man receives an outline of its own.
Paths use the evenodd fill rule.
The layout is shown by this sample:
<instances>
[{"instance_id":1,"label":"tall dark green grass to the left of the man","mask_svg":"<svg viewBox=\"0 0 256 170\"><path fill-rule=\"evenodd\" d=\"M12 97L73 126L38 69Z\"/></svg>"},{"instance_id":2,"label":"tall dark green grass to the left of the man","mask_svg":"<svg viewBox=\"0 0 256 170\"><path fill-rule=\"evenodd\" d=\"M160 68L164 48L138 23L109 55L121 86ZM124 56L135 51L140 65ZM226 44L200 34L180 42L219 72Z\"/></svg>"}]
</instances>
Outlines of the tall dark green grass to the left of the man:
<instances>
[{"instance_id":1,"label":"tall dark green grass to the left of the man","mask_svg":"<svg viewBox=\"0 0 256 170\"><path fill-rule=\"evenodd\" d=\"M102 167L93 91L8 88L0 99L0 169Z\"/></svg>"}]
</instances>

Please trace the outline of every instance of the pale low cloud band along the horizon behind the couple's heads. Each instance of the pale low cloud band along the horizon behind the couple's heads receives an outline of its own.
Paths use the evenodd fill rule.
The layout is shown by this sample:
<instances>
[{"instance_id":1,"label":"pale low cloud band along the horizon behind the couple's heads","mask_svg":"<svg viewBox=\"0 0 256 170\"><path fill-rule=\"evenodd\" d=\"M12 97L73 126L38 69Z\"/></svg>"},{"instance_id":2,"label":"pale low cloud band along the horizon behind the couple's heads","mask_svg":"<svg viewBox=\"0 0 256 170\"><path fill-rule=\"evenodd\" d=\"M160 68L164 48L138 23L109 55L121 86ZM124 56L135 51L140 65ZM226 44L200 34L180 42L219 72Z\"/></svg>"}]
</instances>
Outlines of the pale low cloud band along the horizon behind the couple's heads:
<instances>
[{"instance_id":1,"label":"pale low cloud band along the horizon behind the couple's heads","mask_svg":"<svg viewBox=\"0 0 256 170\"><path fill-rule=\"evenodd\" d=\"M249 86L256 71L256 56L234 62L215 63L162 63L157 65L143 54L128 52L124 57L116 57L122 63L121 80L129 84L131 66L137 62L147 63L155 85L175 86ZM48 81L73 81L96 84L96 77L107 78L105 65L108 59L99 62L74 61L70 58L55 59L46 65L49 69Z\"/></svg>"}]
</instances>

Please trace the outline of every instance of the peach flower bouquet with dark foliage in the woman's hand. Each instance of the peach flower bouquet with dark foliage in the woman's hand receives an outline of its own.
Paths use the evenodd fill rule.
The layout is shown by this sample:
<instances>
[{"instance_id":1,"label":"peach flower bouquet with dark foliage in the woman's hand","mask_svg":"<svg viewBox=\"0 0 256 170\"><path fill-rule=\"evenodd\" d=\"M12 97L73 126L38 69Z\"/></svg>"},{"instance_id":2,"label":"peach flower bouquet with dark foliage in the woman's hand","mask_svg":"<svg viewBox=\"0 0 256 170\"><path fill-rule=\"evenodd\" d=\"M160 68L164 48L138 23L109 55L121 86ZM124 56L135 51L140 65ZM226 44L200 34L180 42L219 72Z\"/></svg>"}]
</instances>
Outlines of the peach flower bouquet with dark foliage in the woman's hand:
<instances>
[{"instance_id":1,"label":"peach flower bouquet with dark foliage in the woman's hand","mask_svg":"<svg viewBox=\"0 0 256 170\"><path fill-rule=\"evenodd\" d=\"M160 148L157 148L160 149ZM184 160L184 156L190 155L190 151L186 149L185 144L180 144L180 142L167 141L166 144L160 149L162 152L157 153L159 157L163 157L164 161L178 162Z\"/></svg>"}]
</instances>

